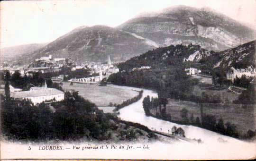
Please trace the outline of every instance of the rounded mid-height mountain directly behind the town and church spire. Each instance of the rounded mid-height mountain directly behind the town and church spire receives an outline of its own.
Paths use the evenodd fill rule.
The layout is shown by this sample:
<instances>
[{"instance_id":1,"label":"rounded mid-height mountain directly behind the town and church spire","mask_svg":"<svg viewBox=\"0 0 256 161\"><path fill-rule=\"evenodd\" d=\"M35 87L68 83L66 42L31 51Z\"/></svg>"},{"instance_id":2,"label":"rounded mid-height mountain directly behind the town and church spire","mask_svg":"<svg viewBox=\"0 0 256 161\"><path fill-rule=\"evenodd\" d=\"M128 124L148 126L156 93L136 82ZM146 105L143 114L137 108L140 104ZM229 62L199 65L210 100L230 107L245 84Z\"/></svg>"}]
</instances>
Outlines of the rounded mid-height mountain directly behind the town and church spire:
<instances>
[{"instance_id":1,"label":"rounded mid-height mountain directly behind the town and church spire","mask_svg":"<svg viewBox=\"0 0 256 161\"><path fill-rule=\"evenodd\" d=\"M71 58L76 62L126 60L155 48L155 44L135 34L95 25L81 26L65 34L45 47L22 58L30 61L43 56Z\"/></svg>"}]
</instances>

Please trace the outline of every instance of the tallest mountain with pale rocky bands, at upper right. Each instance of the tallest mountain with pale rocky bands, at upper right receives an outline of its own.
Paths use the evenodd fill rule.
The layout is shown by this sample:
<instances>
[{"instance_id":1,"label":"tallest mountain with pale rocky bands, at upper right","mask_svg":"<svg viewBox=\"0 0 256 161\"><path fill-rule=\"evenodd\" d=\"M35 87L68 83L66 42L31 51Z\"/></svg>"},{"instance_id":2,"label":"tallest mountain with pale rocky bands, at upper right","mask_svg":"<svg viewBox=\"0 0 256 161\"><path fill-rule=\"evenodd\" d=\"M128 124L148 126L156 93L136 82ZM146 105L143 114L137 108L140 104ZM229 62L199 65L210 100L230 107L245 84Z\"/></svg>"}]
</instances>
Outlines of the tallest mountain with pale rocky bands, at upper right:
<instances>
[{"instance_id":1,"label":"tallest mountain with pale rocky bands, at upper right","mask_svg":"<svg viewBox=\"0 0 256 161\"><path fill-rule=\"evenodd\" d=\"M190 43L223 51L254 40L253 29L209 8L176 6L143 14L117 27L155 42L158 46Z\"/></svg>"}]
</instances>

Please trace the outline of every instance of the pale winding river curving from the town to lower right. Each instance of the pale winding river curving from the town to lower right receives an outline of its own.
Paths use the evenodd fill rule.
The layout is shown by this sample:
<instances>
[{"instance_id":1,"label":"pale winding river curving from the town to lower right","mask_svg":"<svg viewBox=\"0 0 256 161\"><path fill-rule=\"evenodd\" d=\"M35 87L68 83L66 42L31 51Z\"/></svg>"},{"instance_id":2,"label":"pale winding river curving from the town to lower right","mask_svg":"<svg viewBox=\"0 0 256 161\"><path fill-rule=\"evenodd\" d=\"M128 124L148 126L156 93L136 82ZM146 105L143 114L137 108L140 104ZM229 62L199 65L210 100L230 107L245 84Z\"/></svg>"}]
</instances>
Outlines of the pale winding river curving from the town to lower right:
<instances>
[{"instance_id":1,"label":"pale winding river curving from the town to lower right","mask_svg":"<svg viewBox=\"0 0 256 161\"><path fill-rule=\"evenodd\" d=\"M127 86L118 86L118 85L108 85L114 88L121 89L129 89L129 90L141 90L140 88L135 87L127 87ZM207 148L215 148L214 153L234 153L233 156L238 155L239 153L242 156L242 153L245 151L243 148L247 148L247 152L250 154L254 152L256 154L256 146L255 143L248 143L245 141L241 141L229 136L223 136L219 133L212 132L210 130L206 130L200 127L195 127L191 125L179 125L176 123L172 123L169 121L156 119L151 116L146 116L144 109L142 108L143 99L149 95L151 97L157 97L157 93L151 90L143 89L142 98L127 107L124 107L119 110L120 115L119 118L131 122L140 123L150 129L154 128L157 131L162 131L168 133L168 130L171 131L173 126L182 127L185 131L185 136L190 139L201 139L203 144L206 145ZM226 147L223 149L223 147ZM217 149L216 149L217 148ZM209 151L208 151L209 152ZM239 153L238 153L239 152Z\"/></svg>"}]
</instances>

